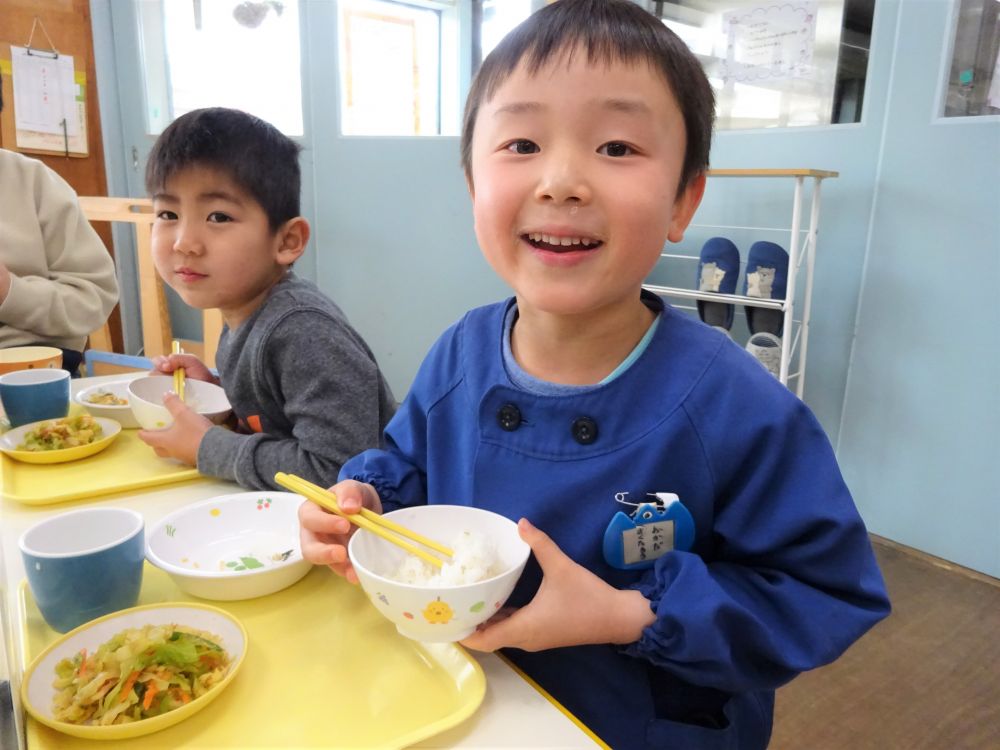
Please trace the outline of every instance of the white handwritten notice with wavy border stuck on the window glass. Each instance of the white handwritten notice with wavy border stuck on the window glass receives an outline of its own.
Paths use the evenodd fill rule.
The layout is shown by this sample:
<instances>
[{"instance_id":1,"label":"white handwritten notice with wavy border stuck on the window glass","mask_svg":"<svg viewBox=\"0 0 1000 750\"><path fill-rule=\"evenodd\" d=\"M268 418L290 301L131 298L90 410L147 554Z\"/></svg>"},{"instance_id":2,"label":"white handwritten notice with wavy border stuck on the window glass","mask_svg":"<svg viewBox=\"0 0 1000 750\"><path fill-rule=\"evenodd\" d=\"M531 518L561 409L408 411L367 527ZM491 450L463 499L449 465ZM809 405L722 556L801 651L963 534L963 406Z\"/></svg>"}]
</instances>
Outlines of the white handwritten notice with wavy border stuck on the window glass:
<instances>
[{"instance_id":1,"label":"white handwritten notice with wavy border stuck on the window glass","mask_svg":"<svg viewBox=\"0 0 1000 750\"><path fill-rule=\"evenodd\" d=\"M804 0L722 14L726 35L723 80L758 83L810 77L817 8L817 0Z\"/></svg>"}]
</instances>

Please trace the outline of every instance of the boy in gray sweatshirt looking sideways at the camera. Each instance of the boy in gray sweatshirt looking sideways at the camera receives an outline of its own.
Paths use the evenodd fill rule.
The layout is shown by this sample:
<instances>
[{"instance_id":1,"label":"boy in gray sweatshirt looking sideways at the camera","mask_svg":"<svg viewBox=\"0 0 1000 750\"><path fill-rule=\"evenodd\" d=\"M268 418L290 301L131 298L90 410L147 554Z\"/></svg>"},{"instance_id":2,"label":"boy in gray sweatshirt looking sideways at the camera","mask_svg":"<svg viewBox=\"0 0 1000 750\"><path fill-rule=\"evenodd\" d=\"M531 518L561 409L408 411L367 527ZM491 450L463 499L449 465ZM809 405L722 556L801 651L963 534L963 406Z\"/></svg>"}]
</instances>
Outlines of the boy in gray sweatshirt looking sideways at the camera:
<instances>
[{"instance_id":1,"label":"boy in gray sweatshirt looking sideways at the camera","mask_svg":"<svg viewBox=\"0 0 1000 750\"><path fill-rule=\"evenodd\" d=\"M290 270L309 241L298 153L252 115L201 109L163 131L146 169L157 272L192 307L219 308L225 323L217 378L190 354L154 366L220 384L239 424L214 426L171 394L173 425L139 437L247 489L276 488L278 471L327 486L348 458L380 444L396 409L340 308Z\"/></svg>"}]
</instances>

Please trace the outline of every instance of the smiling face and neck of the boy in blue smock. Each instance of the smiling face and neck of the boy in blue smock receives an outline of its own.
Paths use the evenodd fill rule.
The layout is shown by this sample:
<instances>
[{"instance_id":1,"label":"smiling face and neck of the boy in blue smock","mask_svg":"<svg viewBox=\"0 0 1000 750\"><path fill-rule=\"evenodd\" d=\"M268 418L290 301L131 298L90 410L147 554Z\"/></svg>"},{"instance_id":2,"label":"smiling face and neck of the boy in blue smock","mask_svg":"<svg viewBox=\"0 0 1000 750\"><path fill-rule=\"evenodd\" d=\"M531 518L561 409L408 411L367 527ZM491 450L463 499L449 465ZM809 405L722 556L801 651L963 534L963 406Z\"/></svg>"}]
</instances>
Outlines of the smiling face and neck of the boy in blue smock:
<instances>
[{"instance_id":1,"label":"smiling face and neck of the boy in blue smock","mask_svg":"<svg viewBox=\"0 0 1000 750\"><path fill-rule=\"evenodd\" d=\"M577 52L519 67L479 105L466 153L476 237L517 292L514 357L543 380L596 383L635 348L657 318L638 289L704 191L703 172L682 173L677 103L646 67Z\"/></svg>"}]
</instances>

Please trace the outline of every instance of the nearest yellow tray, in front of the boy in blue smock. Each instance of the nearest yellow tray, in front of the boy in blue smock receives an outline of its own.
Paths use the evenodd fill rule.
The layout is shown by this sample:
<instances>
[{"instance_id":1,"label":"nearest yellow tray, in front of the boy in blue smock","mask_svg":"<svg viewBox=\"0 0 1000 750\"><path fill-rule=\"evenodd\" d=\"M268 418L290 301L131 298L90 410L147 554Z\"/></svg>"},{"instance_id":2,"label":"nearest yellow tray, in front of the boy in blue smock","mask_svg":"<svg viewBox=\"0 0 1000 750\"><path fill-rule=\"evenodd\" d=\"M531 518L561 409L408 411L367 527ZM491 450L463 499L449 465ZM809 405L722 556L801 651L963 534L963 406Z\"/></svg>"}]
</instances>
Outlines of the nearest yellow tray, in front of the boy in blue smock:
<instances>
[{"instance_id":1,"label":"nearest yellow tray, in front of the boy in blue smock","mask_svg":"<svg viewBox=\"0 0 1000 750\"><path fill-rule=\"evenodd\" d=\"M139 604L200 601L147 563ZM460 646L403 638L360 588L315 568L284 591L209 602L247 629L246 661L203 711L161 732L113 743L156 748L397 748L471 716L486 692L482 668ZM59 637L21 584L26 668ZM29 750L108 750L27 717Z\"/></svg>"}]
</instances>

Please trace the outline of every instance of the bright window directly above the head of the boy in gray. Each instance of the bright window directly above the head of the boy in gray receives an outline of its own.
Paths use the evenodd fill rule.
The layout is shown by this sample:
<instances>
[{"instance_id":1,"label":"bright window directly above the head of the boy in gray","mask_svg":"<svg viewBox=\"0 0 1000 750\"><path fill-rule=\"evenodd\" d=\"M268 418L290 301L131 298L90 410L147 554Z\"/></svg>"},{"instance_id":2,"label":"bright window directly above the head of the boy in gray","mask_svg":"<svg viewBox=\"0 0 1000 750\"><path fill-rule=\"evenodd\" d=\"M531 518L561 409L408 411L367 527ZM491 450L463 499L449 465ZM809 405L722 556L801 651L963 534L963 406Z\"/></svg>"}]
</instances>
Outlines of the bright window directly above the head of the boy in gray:
<instances>
[{"instance_id":1,"label":"bright window directly above the head of the boy in gray","mask_svg":"<svg viewBox=\"0 0 1000 750\"><path fill-rule=\"evenodd\" d=\"M136 0L136 7L150 134L193 109L220 106L302 135L298 0Z\"/></svg>"}]
</instances>

